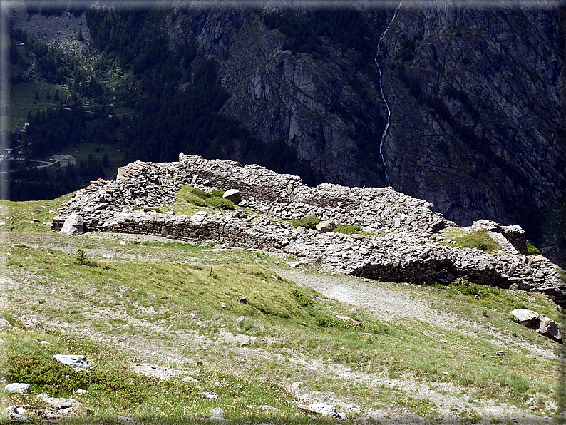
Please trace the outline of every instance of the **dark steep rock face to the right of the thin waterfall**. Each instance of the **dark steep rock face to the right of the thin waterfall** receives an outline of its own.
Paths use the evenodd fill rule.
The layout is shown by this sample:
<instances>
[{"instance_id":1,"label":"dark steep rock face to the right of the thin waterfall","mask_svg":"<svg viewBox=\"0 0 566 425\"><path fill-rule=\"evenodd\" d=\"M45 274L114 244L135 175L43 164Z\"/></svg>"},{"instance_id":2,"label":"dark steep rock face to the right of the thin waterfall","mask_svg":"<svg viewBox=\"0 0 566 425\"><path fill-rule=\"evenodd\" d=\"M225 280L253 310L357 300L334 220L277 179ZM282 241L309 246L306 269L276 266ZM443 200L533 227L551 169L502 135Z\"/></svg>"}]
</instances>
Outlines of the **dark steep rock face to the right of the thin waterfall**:
<instances>
[{"instance_id":1,"label":"dark steep rock face to the right of the thin waterfall","mask_svg":"<svg viewBox=\"0 0 566 425\"><path fill-rule=\"evenodd\" d=\"M401 8L383 58L393 187L457 222L515 220L534 239L535 223L557 230L563 218L552 210L566 187L563 18L559 9L447 1Z\"/></svg>"}]
</instances>

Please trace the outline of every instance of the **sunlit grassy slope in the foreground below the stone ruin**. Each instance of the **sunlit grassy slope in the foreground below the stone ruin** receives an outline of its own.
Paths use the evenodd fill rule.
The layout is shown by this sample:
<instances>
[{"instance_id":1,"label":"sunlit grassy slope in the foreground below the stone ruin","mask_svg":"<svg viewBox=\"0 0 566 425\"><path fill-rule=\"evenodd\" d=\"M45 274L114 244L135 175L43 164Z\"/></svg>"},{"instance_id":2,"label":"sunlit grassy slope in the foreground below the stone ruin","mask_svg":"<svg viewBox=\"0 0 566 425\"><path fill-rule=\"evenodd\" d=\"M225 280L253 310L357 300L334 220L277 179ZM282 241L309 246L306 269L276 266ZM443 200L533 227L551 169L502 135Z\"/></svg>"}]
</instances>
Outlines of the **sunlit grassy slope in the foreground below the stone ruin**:
<instances>
[{"instance_id":1,"label":"sunlit grassy slope in the foreground below the stone ruin","mask_svg":"<svg viewBox=\"0 0 566 425\"><path fill-rule=\"evenodd\" d=\"M81 396L93 411L87 423L113 423L116 415L125 415L173 424L208 416L215 406L237 421L307 423L309 417L299 414L289 394L292 383L299 392L319 394L320 401L332 396L337 405L354 400L365 409L408 409L429 418L441 414L440 406L400 386L376 390L368 382L356 384L352 377L321 373L325 364L431 388L449 384L451 391L477 401L454 409L453 415L463 421L478 419L475 409L486 402L554 413L547 404L557 398L561 379L554 360L526 351L493 356L506 349L497 338L411 319L384 322L362 309L313 297L312 290L270 270L281 258L259 252L137 242L120 235L48 234L44 223L53 217L50 211L67 199L0 204L1 217L10 217L4 220L6 240L0 252L5 259L2 275L9 278L3 291L4 314L16 325L0 335L6 341L1 369L8 372L8 381L34 383L37 393L71 395L79 387L88 389ZM81 247L92 265L76 264ZM438 312L465 314L540 347L550 343L511 323L510 309L532 308L563 320L552 303L537 294L390 287L431 301ZM247 297L247 304L237 302L240 295ZM21 314L41 318L49 333L18 327L13 317ZM334 314L349 316L361 326L345 324ZM43 339L52 345L39 344ZM245 347L240 347L242 340L247 341ZM51 362L51 354L71 352L85 354L95 372L88 378L65 378L68 371ZM130 369L133 362L147 361L182 369L182 376L198 381L176 377L163 383ZM29 364L43 373L25 375ZM313 372L311 364L320 369ZM48 381L41 379L45 371L51 374ZM205 392L218 399L206 399ZM2 396L3 406L19 401ZM531 397L535 401L528 402ZM260 409L262 404L280 410Z\"/></svg>"}]
</instances>

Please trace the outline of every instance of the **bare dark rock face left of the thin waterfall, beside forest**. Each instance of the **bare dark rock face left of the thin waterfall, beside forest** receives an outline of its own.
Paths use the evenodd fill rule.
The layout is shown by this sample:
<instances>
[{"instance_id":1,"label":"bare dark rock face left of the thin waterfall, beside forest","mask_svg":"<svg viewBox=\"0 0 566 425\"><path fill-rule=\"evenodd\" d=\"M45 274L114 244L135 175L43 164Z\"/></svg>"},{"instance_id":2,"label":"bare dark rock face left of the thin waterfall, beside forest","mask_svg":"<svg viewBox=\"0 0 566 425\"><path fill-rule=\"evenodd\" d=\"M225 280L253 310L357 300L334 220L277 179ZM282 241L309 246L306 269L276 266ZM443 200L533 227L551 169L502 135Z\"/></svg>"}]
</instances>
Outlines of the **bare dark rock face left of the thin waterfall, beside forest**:
<instances>
[{"instance_id":1,"label":"bare dark rock face left of the thin waterfall, beside forest","mask_svg":"<svg viewBox=\"0 0 566 425\"><path fill-rule=\"evenodd\" d=\"M284 140L319 181L385 183L376 150L366 158L359 148L359 126L377 138L383 125L375 66L360 71L359 51L324 38L322 53L285 50L284 36L267 29L259 13L207 11L168 19L172 40L195 37L203 56L220 61L222 86L232 95L223 113L268 144Z\"/></svg>"}]
</instances>

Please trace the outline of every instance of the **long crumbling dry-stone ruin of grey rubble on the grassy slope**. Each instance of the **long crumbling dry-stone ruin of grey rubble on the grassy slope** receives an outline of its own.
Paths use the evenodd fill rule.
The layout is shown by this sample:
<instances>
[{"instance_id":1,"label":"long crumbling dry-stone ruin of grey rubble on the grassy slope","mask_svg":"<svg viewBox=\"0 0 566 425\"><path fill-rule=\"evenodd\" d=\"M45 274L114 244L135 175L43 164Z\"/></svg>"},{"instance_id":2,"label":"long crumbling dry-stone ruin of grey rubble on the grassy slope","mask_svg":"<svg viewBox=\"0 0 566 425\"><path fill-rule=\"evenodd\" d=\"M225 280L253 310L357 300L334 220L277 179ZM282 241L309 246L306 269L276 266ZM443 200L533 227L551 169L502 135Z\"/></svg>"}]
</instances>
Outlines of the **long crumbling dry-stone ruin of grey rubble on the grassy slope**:
<instances>
[{"instance_id":1,"label":"long crumbling dry-stone ruin of grey rubble on the grassy slope","mask_svg":"<svg viewBox=\"0 0 566 425\"><path fill-rule=\"evenodd\" d=\"M238 205L245 208L230 212L200 208L192 216L175 215L168 206L176 202L182 185L239 190ZM318 232L294 228L287 221L308 215L359 225L365 232ZM519 226L479 220L458 228L436 213L433 204L392 188L328 183L312 188L297 175L232 160L181 153L174 163L136 161L120 168L115 181L99 179L78 190L53 219L51 230L61 230L67 219L82 222L84 232L139 233L283 252L374 280L448 284L463 278L481 285L542 292L566 305L566 283L556 266L542 255L528 255ZM453 228L460 232L485 229L501 249L490 254L457 247L443 234Z\"/></svg>"}]
</instances>

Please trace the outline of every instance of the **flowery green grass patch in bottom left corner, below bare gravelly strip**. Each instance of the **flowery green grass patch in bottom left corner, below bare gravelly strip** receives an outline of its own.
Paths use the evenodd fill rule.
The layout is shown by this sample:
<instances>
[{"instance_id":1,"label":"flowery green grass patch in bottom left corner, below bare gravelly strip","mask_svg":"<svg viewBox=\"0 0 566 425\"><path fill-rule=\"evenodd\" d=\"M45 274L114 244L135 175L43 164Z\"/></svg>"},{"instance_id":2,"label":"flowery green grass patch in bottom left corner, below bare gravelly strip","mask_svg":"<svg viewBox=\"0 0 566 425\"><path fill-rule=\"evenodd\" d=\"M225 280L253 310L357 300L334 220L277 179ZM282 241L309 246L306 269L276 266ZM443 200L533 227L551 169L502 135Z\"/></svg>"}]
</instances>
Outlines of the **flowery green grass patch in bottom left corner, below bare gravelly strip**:
<instances>
[{"instance_id":1,"label":"flowery green grass patch in bottom left corner, below bare gravelly strip","mask_svg":"<svg viewBox=\"0 0 566 425\"><path fill-rule=\"evenodd\" d=\"M44 408L36 395L47 392L76 397L91 410L90 415L78 419L81 424L115 424L117 415L144 423L191 424L191 418L210 416L210 409L217 406L225 411L225 417L238 423L280 421L297 413L292 396L282 386L247 373L185 364L178 366L184 372L180 377L163 382L135 373L128 358L88 339L28 329L4 331L1 337L5 341L4 356L0 357L4 377L8 382L31 384L30 394L2 394L2 409L12 404ZM53 354L72 353L85 355L91 369L77 372L53 359ZM182 382L187 376L196 376L197 381ZM77 396L77 389L87 393ZM207 399L206 394L215 394L217 399ZM259 409L264 404L278 410ZM41 421L38 416L32 419ZM308 418L297 421L307 423Z\"/></svg>"}]
</instances>

